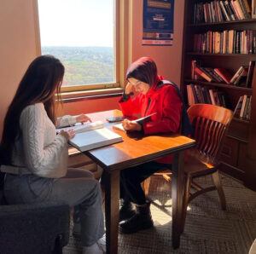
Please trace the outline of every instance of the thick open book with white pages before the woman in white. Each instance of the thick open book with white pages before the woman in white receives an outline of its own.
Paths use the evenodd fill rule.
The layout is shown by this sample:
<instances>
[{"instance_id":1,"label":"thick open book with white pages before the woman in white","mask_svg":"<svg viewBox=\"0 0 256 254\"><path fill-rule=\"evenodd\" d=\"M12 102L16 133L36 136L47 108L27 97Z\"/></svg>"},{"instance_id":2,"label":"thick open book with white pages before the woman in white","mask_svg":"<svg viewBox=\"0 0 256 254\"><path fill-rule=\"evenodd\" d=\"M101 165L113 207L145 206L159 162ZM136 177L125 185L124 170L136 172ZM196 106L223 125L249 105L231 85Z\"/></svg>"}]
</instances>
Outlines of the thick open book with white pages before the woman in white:
<instances>
[{"instance_id":1,"label":"thick open book with white pages before the woman in white","mask_svg":"<svg viewBox=\"0 0 256 254\"><path fill-rule=\"evenodd\" d=\"M107 128L101 128L96 130L87 130L80 132L69 141L69 143L79 149L81 152L85 152L98 147L105 147L123 141L122 136Z\"/></svg>"}]
</instances>

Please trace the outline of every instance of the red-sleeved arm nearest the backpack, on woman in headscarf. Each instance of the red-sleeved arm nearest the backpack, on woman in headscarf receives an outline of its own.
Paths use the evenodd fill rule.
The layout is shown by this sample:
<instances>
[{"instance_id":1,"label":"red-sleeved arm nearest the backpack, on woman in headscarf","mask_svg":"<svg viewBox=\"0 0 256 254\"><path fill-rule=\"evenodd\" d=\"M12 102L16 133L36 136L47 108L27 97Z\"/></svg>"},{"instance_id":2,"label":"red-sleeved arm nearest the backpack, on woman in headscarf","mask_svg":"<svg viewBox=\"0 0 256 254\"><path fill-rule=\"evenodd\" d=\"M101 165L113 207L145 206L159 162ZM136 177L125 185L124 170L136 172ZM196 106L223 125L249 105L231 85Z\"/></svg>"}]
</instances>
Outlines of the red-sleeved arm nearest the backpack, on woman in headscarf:
<instances>
[{"instance_id":1,"label":"red-sleeved arm nearest the backpack, on woman in headscarf","mask_svg":"<svg viewBox=\"0 0 256 254\"><path fill-rule=\"evenodd\" d=\"M181 121L183 103L171 85L168 87L163 100L162 118L159 121L144 123L144 134L177 133Z\"/></svg>"}]
</instances>

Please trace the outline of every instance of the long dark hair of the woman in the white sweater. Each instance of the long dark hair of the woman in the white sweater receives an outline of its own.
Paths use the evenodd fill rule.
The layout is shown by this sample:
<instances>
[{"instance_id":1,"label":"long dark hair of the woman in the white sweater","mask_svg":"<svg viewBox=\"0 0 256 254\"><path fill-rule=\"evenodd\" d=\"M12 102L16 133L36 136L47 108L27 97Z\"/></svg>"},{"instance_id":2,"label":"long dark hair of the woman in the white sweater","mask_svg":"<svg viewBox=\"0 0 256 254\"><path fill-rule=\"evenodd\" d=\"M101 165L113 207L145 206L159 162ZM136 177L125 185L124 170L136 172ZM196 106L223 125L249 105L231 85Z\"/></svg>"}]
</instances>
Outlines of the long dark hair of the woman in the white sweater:
<instances>
[{"instance_id":1,"label":"long dark hair of the woman in the white sweater","mask_svg":"<svg viewBox=\"0 0 256 254\"><path fill-rule=\"evenodd\" d=\"M20 136L20 114L26 106L43 102L55 124L55 92L60 93L64 72L61 61L52 55L38 56L28 66L4 118L0 164L12 164L15 140Z\"/></svg>"}]
</instances>

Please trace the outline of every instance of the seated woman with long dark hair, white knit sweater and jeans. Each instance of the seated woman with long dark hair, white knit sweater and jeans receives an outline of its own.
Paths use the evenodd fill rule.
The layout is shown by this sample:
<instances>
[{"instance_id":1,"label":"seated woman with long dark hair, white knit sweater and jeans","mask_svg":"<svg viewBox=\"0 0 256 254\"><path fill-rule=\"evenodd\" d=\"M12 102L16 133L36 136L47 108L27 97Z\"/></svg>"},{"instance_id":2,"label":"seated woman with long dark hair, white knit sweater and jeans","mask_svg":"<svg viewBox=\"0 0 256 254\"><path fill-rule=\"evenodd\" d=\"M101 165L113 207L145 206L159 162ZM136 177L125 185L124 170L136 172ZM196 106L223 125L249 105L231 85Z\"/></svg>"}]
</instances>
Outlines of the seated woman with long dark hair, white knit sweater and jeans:
<instances>
[{"instance_id":1,"label":"seated woman with long dark hair, white knit sweater and jeans","mask_svg":"<svg viewBox=\"0 0 256 254\"><path fill-rule=\"evenodd\" d=\"M64 201L74 208L84 253L102 253L102 194L90 171L67 169L67 141L73 130L56 135L55 125L90 121L86 115L55 117L55 99L64 75L61 61L36 58L20 81L3 126L1 171L9 204Z\"/></svg>"}]
</instances>

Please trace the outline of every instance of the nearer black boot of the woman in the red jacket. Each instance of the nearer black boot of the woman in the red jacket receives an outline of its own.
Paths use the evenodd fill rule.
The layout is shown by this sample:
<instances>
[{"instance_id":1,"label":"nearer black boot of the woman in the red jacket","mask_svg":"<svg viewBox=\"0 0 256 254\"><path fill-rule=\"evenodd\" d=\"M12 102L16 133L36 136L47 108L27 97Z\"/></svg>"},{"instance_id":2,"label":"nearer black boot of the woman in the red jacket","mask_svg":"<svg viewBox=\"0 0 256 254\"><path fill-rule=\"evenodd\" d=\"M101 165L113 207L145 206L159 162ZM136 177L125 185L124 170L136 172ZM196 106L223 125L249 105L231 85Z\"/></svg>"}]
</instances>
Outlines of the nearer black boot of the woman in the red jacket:
<instances>
[{"instance_id":1,"label":"nearer black boot of the woman in the red jacket","mask_svg":"<svg viewBox=\"0 0 256 254\"><path fill-rule=\"evenodd\" d=\"M119 223L119 231L123 234L136 233L139 230L152 228L154 226L151 212L150 203L145 205L136 205L137 213L125 222Z\"/></svg>"}]
</instances>

